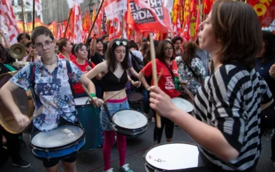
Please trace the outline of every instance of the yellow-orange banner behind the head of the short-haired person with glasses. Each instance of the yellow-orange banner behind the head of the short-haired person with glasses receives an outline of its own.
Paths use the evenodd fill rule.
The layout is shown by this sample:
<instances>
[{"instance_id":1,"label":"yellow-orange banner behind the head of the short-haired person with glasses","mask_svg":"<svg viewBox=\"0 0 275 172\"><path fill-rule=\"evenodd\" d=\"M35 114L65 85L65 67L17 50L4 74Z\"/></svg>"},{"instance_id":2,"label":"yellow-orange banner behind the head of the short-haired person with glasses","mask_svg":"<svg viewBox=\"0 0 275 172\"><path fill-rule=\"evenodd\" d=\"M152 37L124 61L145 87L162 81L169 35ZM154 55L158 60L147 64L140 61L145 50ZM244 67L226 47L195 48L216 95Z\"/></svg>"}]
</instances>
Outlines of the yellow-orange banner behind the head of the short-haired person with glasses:
<instances>
[{"instance_id":1,"label":"yellow-orange banner behind the head of the short-haired person with glasses","mask_svg":"<svg viewBox=\"0 0 275 172\"><path fill-rule=\"evenodd\" d=\"M19 33L23 33L23 22L17 21L17 25L18 25ZM37 27L41 25L49 28L54 34L54 37L58 36L58 28L57 28L56 21L52 22L50 25L44 25L39 18L36 18L34 22L34 26ZM29 34L32 32L32 22L25 23L25 32Z\"/></svg>"}]
</instances>

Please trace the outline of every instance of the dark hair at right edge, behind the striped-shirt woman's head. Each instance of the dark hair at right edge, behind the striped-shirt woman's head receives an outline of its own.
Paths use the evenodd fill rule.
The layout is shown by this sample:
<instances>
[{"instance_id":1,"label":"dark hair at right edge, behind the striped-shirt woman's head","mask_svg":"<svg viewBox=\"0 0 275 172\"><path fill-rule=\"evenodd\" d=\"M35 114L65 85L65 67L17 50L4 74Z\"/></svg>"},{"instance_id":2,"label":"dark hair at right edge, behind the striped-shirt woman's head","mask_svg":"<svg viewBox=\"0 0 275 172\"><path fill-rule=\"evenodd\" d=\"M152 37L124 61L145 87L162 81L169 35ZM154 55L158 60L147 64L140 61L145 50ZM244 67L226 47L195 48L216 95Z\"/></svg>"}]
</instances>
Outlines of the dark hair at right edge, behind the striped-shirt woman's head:
<instances>
[{"instance_id":1,"label":"dark hair at right edge, behind the striped-shirt woman's head","mask_svg":"<svg viewBox=\"0 0 275 172\"><path fill-rule=\"evenodd\" d=\"M271 57L275 57L275 34L267 30L263 30L262 34L265 43L265 54L263 54L261 61L264 63Z\"/></svg>"}]
</instances>

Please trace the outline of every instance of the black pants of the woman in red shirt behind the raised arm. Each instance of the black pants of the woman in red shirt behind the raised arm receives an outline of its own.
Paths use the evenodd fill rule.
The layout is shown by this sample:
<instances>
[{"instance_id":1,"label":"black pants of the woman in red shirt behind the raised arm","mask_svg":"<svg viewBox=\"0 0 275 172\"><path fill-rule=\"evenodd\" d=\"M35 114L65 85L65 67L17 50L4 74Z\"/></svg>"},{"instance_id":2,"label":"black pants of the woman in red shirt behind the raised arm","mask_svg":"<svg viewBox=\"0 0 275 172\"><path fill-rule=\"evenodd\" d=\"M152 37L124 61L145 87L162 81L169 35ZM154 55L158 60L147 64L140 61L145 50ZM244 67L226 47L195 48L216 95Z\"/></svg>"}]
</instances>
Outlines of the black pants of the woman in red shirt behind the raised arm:
<instances>
[{"instance_id":1,"label":"black pants of the woman in red shirt behind the raised arm","mask_svg":"<svg viewBox=\"0 0 275 172\"><path fill-rule=\"evenodd\" d=\"M153 114L155 116L155 111L153 111ZM161 117L161 118L162 118L162 127L160 129L157 128L157 122L155 122L155 129L154 129L155 143L159 143L162 140L162 132L164 130L164 127L165 127L166 138L173 138L174 122L165 117Z\"/></svg>"}]
</instances>

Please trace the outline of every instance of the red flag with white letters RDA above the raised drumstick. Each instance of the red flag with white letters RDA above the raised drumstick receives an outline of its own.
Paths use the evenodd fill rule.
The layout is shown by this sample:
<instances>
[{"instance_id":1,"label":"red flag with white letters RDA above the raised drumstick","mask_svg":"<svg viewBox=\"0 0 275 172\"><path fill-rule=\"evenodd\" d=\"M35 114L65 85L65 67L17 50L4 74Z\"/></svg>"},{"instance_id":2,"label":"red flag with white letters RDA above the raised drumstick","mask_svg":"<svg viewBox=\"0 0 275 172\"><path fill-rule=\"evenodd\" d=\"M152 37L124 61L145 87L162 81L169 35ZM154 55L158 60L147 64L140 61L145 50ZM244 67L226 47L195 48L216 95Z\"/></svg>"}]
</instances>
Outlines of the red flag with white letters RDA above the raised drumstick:
<instances>
[{"instance_id":1,"label":"red flag with white letters RDA above the raised drumstick","mask_svg":"<svg viewBox=\"0 0 275 172\"><path fill-rule=\"evenodd\" d=\"M170 13L162 0L128 0L127 23L140 32L168 33Z\"/></svg>"}]
</instances>

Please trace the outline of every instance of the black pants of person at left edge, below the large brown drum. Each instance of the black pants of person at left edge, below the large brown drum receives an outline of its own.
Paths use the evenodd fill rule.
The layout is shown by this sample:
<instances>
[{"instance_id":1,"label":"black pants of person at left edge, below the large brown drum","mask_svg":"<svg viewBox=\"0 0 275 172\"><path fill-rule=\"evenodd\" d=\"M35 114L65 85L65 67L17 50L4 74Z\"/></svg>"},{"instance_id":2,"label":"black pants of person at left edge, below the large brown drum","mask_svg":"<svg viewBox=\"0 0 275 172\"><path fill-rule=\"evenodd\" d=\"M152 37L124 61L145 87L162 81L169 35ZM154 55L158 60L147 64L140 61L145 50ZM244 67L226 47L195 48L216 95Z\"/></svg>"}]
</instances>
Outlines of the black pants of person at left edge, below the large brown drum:
<instances>
[{"instance_id":1,"label":"black pants of person at left edge, below the large brown drum","mask_svg":"<svg viewBox=\"0 0 275 172\"><path fill-rule=\"evenodd\" d=\"M5 152L5 150L3 149L3 136L5 136L7 140L5 147L8 147L8 152ZM21 136L20 133L9 133L8 131L5 131L5 129L3 129L3 127L1 127L0 125L0 166L1 164L4 164L6 160L8 160L8 155L11 156L13 162L21 160L20 144L18 139L19 136Z\"/></svg>"}]
</instances>

